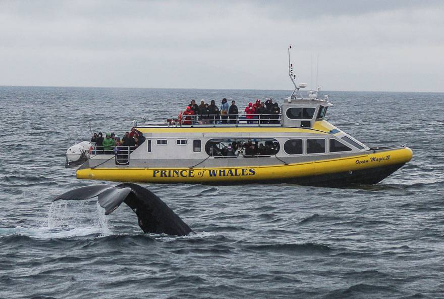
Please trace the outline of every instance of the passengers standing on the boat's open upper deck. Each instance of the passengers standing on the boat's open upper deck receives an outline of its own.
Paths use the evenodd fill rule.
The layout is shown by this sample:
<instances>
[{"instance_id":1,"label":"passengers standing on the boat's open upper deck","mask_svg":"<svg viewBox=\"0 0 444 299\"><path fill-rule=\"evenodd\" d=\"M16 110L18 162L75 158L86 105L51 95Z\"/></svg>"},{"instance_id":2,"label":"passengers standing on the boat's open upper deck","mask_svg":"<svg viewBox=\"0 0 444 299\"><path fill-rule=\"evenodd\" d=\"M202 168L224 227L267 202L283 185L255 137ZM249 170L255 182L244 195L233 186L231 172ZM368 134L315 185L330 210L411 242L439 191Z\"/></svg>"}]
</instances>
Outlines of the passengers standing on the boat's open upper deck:
<instances>
[{"instance_id":1,"label":"passengers standing on the boat's open upper deck","mask_svg":"<svg viewBox=\"0 0 444 299\"><path fill-rule=\"evenodd\" d=\"M278 103L273 103L273 99L269 98L265 102L260 102L257 99L255 104L249 103L245 108L245 119L247 124L279 124L280 113L281 109ZM236 101L231 101L231 105L229 105L225 97L222 99L220 107L216 106L213 99L209 105L201 101L199 106L193 99L185 111L180 114L180 117L183 117L182 124L184 125L237 124L239 109L236 106Z\"/></svg>"}]
</instances>

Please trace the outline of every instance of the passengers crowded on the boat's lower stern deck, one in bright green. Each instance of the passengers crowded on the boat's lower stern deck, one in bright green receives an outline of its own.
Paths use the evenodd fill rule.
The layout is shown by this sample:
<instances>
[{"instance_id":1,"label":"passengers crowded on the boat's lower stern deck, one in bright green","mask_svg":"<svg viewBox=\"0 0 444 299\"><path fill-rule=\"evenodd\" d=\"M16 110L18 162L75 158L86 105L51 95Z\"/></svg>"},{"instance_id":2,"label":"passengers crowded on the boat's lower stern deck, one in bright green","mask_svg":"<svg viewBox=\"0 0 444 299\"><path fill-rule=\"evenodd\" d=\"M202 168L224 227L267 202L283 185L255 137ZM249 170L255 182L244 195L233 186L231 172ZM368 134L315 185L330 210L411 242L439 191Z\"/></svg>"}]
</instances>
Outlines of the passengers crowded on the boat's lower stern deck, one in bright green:
<instances>
[{"instance_id":1,"label":"passengers crowded on the boat's lower stern deck, one in bright green","mask_svg":"<svg viewBox=\"0 0 444 299\"><path fill-rule=\"evenodd\" d=\"M103 138L102 132L94 133L91 137L91 143L95 144L95 154L113 155L119 152L128 151L128 148L134 151L145 141L142 132L131 128L131 132L125 132L122 138L117 137L115 133L106 133ZM129 147L128 147L129 146Z\"/></svg>"}]
</instances>

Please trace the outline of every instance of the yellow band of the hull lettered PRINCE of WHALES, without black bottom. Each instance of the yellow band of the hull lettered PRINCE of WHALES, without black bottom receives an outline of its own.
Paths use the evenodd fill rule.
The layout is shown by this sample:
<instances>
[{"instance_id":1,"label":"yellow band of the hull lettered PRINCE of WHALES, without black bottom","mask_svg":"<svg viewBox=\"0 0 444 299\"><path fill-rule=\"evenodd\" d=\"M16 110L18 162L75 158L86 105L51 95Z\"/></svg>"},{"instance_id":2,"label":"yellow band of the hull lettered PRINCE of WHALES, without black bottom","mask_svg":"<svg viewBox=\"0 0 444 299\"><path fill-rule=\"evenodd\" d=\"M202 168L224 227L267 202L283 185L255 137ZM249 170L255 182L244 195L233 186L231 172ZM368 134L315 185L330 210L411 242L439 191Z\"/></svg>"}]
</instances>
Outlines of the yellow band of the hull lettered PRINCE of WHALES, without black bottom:
<instances>
[{"instance_id":1,"label":"yellow band of the hull lettered PRINCE of WHALES, without black bottom","mask_svg":"<svg viewBox=\"0 0 444 299\"><path fill-rule=\"evenodd\" d=\"M289 165L221 168L87 168L77 170L77 178L147 183L230 183L288 180L376 167L402 165L412 159L408 147L381 153L319 160Z\"/></svg>"}]
</instances>

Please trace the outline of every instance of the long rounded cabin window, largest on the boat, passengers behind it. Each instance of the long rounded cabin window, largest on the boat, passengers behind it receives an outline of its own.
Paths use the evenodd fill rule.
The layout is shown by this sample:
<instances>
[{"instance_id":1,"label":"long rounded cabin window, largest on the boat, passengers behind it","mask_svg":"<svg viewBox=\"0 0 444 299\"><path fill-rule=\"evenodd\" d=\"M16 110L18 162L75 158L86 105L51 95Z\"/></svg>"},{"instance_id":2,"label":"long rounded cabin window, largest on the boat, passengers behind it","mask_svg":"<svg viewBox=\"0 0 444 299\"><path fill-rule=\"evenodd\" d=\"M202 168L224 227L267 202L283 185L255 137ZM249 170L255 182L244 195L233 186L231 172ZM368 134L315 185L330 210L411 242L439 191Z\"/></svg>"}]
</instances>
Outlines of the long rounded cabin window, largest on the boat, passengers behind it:
<instances>
[{"instance_id":1,"label":"long rounded cabin window, largest on the boat, passengers behind it","mask_svg":"<svg viewBox=\"0 0 444 299\"><path fill-rule=\"evenodd\" d=\"M205 152L214 158L271 157L280 144L273 138L218 138L205 144Z\"/></svg>"}]
</instances>

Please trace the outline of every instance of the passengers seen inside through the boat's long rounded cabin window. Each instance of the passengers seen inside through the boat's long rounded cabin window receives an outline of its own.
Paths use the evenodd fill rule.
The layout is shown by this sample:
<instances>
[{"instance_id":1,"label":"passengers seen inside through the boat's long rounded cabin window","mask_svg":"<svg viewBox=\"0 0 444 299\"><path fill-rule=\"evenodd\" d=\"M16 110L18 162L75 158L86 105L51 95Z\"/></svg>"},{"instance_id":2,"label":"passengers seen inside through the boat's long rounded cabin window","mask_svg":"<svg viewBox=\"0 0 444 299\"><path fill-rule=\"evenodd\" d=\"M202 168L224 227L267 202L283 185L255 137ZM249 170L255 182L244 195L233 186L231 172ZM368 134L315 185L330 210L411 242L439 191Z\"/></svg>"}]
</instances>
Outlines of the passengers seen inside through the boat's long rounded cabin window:
<instances>
[{"instance_id":1,"label":"passengers seen inside through the boat's long rounded cabin window","mask_svg":"<svg viewBox=\"0 0 444 299\"><path fill-rule=\"evenodd\" d=\"M212 157L236 157L244 156L251 157L269 157L279 152L279 143L273 141L265 141L259 144L258 141L237 142L229 143L219 148L216 143L208 148L208 155Z\"/></svg>"}]
</instances>

